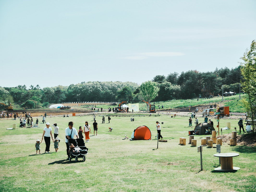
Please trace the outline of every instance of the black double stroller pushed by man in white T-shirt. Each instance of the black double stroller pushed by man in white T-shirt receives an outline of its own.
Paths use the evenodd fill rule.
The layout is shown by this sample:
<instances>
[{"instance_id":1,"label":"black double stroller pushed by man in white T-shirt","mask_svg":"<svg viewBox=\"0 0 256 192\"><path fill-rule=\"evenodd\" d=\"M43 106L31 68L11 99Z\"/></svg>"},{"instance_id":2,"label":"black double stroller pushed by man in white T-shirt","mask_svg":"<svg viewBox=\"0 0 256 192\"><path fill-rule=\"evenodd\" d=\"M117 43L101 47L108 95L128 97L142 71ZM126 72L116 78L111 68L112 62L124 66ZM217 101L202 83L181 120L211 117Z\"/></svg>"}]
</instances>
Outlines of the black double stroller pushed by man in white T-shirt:
<instances>
[{"instance_id":1,"label":"black double stroller pushed by man in white T-shirt","mask_svg":"<svg viewBox=\"0 0 256 192\"><path fill-rule=\"evenodd\" d=\"M74 149L76 147L80 147L81 150L79 152L73 152L73 150L70 151L68 160L71 161L72 158L75 158L76 162L78 161L78 158L83 158L83 161L85 161L85 156L88 154L88 148L86 148L84 141L82 138L78 138L76 140L74 139L69 139L68 144L73 144Z\"/></svg>"}]
</instances>

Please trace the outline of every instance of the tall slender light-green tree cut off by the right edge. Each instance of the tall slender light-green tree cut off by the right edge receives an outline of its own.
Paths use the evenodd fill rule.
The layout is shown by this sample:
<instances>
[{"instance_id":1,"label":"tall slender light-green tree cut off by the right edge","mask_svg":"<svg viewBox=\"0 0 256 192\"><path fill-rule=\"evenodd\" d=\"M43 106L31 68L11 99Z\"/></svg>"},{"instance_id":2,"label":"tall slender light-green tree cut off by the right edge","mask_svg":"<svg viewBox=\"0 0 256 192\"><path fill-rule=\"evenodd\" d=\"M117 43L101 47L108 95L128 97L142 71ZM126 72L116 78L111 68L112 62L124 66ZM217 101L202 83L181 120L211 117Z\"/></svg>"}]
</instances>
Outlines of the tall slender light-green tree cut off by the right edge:
<instances>
[{"instance_id":1,"label":"tall slender light-green tree cut off by the right edge","mask_svg":"<svg viewBox=\"0 0 256 192\"><path fill-rule=\"evenodd\" d=\"M245 107L250 111L249 116L252 119L252 130L254 135L254 116L256 111L256 42L252 41L250 49L246 50L243 57L242 75L244 78L243 91L247 93L247 100L243 100Z\"/></svg>"}]
</instances>

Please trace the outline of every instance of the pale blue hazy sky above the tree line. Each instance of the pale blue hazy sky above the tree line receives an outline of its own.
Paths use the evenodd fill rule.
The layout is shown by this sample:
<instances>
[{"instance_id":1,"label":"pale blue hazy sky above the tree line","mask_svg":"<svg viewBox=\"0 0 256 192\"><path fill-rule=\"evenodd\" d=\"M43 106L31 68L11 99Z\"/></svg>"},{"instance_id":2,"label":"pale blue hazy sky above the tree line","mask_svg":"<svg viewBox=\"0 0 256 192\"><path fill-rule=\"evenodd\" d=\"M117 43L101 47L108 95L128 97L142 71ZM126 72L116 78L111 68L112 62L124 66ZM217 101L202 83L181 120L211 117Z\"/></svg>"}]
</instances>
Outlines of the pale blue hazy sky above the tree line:
<instances>
[{"instance_id":1,"label":"pale blue hazy sky above the tree line","mask_svg":"<svg viewBox=\"0 0 256 192\"><path fill-rule=\"evenodd\" d=\"M256 39L255 8L254 0L0 0L0 86L235 68Z\"/></svg>"}]
</instances>

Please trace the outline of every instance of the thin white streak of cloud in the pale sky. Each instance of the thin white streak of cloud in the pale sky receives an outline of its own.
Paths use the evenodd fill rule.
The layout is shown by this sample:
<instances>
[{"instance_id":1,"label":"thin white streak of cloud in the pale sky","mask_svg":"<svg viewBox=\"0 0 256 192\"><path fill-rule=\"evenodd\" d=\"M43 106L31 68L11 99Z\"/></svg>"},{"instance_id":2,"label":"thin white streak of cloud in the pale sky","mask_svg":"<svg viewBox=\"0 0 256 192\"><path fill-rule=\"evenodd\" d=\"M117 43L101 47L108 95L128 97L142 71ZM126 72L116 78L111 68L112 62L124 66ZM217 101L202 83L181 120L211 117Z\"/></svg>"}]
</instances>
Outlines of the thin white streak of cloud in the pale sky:
<instances>
[{"instance_id":1,"label":"thin white streak of cloud in the pale sky","mask_svg":"<svg viewBox=\"0 0 256 192\"><path fill-rule=\"evenodd\" d=\"M148 59L150 57L174 57L183 55L185 54L182 52L145 52L139 53L135 56L120 57L120 59L141 60Z\"/></svg>"}]
</instances>

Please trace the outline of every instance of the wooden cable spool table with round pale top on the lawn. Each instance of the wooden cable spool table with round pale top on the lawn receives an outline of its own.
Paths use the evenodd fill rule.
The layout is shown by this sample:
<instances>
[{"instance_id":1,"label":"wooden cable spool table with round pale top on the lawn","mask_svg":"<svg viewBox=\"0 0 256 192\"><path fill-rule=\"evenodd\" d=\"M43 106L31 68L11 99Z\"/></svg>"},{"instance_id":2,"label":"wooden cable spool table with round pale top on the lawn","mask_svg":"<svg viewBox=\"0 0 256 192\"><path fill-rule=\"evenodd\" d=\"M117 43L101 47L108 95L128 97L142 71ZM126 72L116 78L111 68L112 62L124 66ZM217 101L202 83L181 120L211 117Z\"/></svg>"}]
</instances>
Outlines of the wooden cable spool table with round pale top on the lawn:
<instances>
[{"instance_id":1,"label":"wooden cable spool table with round pale top on the lawn","mask_svg":"<svg viewBox=\"0 0 256 192\"><path fill-rule=\"evenodd\" d=\"M213 156L220 157L221 167L217 167L216 171L233 171L240 169L239 167L233 167L233 157L239 156L238 153L216 153Z\"/></svg>"}]
</instances>

